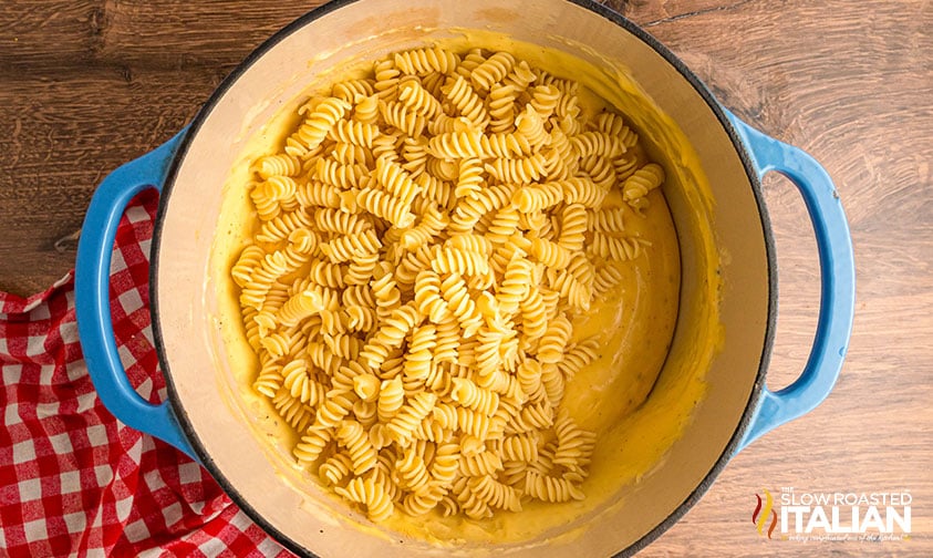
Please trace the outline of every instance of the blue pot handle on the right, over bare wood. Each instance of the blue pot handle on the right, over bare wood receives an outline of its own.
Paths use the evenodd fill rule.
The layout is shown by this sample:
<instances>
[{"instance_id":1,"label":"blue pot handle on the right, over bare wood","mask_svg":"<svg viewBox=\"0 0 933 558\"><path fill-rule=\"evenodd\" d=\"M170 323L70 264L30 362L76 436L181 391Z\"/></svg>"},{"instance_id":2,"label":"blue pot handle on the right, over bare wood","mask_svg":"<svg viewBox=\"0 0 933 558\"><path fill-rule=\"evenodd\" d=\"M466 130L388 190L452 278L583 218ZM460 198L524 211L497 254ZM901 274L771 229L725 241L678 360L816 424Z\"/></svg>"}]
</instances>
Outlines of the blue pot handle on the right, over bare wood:
<instances>
[{"instance_id":1,"label":"blue pot handle on the right, over bare wood","mask_svg":"<svg viewBox=\"0 0 933 558\"><path fill-rule=\"evenodd\" d=\"M745 142L758 175L780 173L804 196L817 237L821 286L817 332L804 372L782 390L763 388L738 452L766 432L809 413L832 391L852 333L856 267L846 213L826 169L801 149L758 132L729 111L726 115Z\"/></svg>"}]
</instances>

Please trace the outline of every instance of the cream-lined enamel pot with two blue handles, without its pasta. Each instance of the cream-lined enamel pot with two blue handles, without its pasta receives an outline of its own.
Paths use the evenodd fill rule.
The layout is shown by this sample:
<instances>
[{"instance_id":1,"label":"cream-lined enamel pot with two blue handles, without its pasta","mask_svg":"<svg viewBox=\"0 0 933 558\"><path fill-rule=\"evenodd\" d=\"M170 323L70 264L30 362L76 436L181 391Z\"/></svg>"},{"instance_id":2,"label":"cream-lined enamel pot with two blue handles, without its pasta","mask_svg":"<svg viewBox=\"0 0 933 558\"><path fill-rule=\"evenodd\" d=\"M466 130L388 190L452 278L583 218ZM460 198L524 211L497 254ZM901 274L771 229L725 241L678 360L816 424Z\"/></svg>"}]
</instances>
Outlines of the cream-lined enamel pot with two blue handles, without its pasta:
<instances>
[{"instance_id":1,"label":"cream-lined enamel pot with two blue handles, without its pasta","mask_svg":"<svg viewBox=\"0 0 933 558\"><path fill-rule=\"evenodd\" d=\"M682 435L663 458L597 510L521 544L442 549L365 527L359 514L341 512L345 506L294 486L243 410L231 404L236 363L219 340L219 279L209 270L212 246L225 234L218 230L222 186L243 143L280 106L348 60L372 60L464 30L560 50L595 68L613 65L609 75L621 73L636 84L637 94L626 96L641 103L632 115L634 127L649 143L665 145L659 156L674 169L664 193L682 254L681 312L655 390L701 382L705 394L692 402ZM653 132L659 130L674 132ZM684 163L690 157L693 166ZM765 388L777 275L759 177L770 170L787 175L804 196L822 272L810 359L800 378L779 392ZM169 401L162 405L144 402L126 380L107 296L116 224L129 199L148 187L162 192L151 271L153 331L169 386ZM849 342L853 293L848 226L822 168L721 107L670 51L632 22L583 0L357 0L310 12L236 69L185 131L101 184L76 264L81 342L105 405L127 425L200 462L260 526L309 556L633 554L683 516L737 451L829 394ZM709 323L722 342L693 347L701 333L697 331ZM691 354L703 356L698 362L706 365L674 364Z\"/></svg>"}]
</instances>

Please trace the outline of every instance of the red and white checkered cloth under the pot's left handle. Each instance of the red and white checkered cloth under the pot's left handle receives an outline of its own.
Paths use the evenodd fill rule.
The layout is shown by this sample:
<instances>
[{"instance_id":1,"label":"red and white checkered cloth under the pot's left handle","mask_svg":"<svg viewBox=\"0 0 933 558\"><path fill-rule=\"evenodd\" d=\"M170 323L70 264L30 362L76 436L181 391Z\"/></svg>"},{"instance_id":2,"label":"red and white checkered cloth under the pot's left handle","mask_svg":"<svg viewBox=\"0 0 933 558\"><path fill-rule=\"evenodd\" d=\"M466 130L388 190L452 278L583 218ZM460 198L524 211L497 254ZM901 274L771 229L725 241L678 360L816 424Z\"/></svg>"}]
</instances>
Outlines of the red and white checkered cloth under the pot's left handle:
<instances>
[{"instance_id":1,"label":"red and white checkered cloth under the pot's left handle","mask_svg":"<svg viewBox=\"0 0 933 558\"><path fill-rule=\"evenodd\" d=\"M153 347L148 254L157 196L116 235L111 304L137 391L166 396ZM0 292L0 556L291 556L184 453L124 425L87 375L74 277L28 299Z\"/></svg>"}]
</instances>

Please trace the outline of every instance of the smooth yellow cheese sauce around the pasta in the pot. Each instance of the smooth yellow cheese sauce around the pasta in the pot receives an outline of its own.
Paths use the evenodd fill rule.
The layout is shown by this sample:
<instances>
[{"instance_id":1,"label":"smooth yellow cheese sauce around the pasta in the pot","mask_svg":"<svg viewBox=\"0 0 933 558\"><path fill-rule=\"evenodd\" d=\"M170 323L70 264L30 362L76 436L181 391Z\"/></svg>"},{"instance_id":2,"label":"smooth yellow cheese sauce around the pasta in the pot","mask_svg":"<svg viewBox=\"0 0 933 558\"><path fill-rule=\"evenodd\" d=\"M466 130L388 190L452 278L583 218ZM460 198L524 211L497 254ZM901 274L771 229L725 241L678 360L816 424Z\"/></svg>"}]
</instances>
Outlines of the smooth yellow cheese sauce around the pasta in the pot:
<instances>
[{"instance_id":1,"label":"smooth yellow cheese sauce around the pasta in the pot","mask_svg":"<svg viewBox=\"0 0 933 558\"><path fill-rule=\"evenodd\" d=\"M651 240L651 246L624 267L623 279L616 289L598 299L591 311L576 319L574 339L600 337L599 358L580 371L567 384L562 405L581 427L598 434L590 476L582 489L587 498L564 504L523 504L519 513L497 512L491 519L474 520L462 516L443 518L439 513L412 518L401 512L381 526L359 514L346 515L348 506L333 497L333 519L353 525L369 534L391 536L397 531L414 539L450 547L466 542L547 544L548 537L577 537L585 533L585 521L618 505L618 494L625 486L650 474L664 453L681 435L690 415L703 396L703 372L721 343L718 329L715 275L716 252L708 223L708 186L705 184L696 155L673 122L665 120L637 85L619 70L598 69L558 51L519 43L493 33L464 31L457 37L439 41L442 45L463 51L467 45L488 50L508 50L558 76L581 82L593 95L613 104L647 144L650 158L665 167L665 192L677 189L687 204L696 209L690 223L677 224L683 232L697 236L701 248L697 276L691 277L692 288L698 289L688 307L681 308L681 255L675 228L664 195L654 190L649 195L650 208L643 216L630 211L625 220L630 234ZM365 64L369 66L369 62ZM359 68L344 64L343 68ZM329 82L351 75L336 76ZM325 83L318 84L325 85ZM309 89L315 93L318 89ZM585 96L585 95L584 95ZM317 477L301 471L291 457L296 435L278 417L271 403L253 392L251 384L258 373L258 361L246 341L238 302L238 289L229 271L242 247L255 232L255 217L246 190L250 178L249 165L257 156L274 153L282 138L296 125L294 107L305 96L286 104L280 113L247 143L241 157L231 169L225 185L218 235L211 258L211 287L218 302L218 323L234 375L232 410L259 437L268 441L268 456L277 464L283 480L296 490L320 498ZM652 116L645 117L645 114ZM671 352L677 320L690 319L690 331L680 343L682 349ZM659 380L659 373L664 374ZM229 390L229 386L226 386ZM312 493L314 496L312 496ZM313 506L312 506L313 507ZM573 521L578 520L576 525ZM560 533L570 525L572 529ZM386 530L388 528L390 530ZM475 551L475 546L471 551Z\"/></svg>"}]
</instances>

